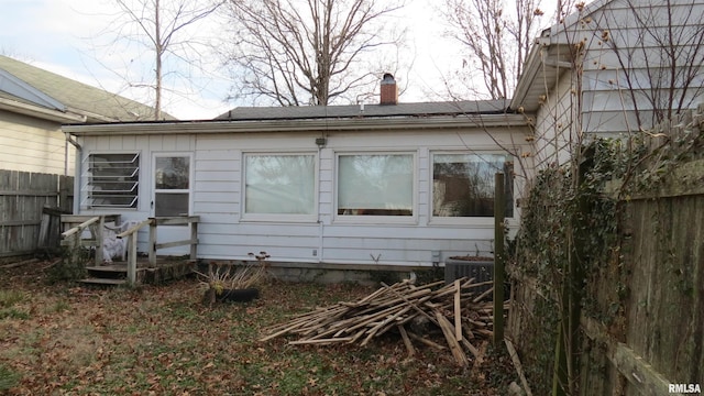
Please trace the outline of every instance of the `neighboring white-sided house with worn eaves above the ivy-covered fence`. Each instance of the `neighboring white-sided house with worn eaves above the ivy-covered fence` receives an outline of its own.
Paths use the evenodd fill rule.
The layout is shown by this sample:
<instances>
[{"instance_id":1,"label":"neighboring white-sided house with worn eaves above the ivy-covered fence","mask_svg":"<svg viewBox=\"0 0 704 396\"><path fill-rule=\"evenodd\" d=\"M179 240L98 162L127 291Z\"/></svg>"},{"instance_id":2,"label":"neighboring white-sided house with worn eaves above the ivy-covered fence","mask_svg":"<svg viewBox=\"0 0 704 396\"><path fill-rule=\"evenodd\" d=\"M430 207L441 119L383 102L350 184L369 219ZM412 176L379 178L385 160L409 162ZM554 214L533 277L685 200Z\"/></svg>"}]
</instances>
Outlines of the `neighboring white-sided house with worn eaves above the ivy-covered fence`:
<instances>
[{"instance_id":1,"label":"neighboring white-sided house with worn eaves above the ivy-covered fence","mask_svg":"<svg viewBox=\"0 0 704 396\"><path fill-rule=\"evenodd\" d=\"M535 166L704 101L704 2L596 0L538 37L510 108L535 125Z\"/></svg>"}]
</instances>

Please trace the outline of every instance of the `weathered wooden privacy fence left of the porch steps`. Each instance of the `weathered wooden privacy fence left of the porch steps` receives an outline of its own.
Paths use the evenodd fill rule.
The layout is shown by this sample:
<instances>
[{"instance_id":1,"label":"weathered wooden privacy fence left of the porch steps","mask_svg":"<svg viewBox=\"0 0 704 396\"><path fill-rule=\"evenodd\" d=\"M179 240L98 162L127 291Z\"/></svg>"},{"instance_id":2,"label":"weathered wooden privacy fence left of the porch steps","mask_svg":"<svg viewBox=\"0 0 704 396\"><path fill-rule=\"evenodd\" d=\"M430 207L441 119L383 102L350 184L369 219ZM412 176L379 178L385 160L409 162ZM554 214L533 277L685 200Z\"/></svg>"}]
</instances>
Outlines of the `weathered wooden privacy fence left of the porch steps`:
<instances>
[{"instance_id":1,"label":"weathered wooden privacy fence left of the porch steps","mask_svg":"<svg viewBox=\"0 0 704 396\"><path fill-rule=\"evenodd\" d=\"M58 248L73 188L72 176L0 170L0 257Z\"/></svg>"}]
</instances>

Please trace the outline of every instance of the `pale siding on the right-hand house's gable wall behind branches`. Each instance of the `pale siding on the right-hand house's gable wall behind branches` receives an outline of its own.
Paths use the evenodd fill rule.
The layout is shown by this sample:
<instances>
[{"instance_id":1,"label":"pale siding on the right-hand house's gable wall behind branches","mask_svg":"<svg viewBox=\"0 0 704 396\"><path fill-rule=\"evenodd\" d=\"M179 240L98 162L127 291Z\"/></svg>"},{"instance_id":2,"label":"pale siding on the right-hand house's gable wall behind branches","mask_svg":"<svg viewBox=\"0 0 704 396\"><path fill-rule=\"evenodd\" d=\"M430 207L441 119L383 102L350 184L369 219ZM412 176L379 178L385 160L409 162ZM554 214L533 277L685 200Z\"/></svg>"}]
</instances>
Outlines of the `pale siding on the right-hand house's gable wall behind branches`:
<instances>
[{"instance_id":1,"label":"pale siding on the right-hand house's gable wall behind branches","mask_svg":"<svg viewBox=\"0 0 704 396\"><path fill-rule=\"evenodd\" d=\"M616 136L626 132L649 129L653 125L653 106L647 97L652 94L636 94L636 99L630 95L631 87L635 90L650 91L670 87L670 81L656 82L649 76L669 76L669 54L663 50L662 41L669 40L669 30L674 33L674 52L679 56L678 64L681 67L690 67L693 62L683 58L693 46L691 40L701 35L701 23L704 18L704 3L692 0L670 0L672 23L668 20L668 6L662 0L635 1L639 18L647 24L646 29L639 25L634 10L628 1L616 0L606 3L590 15L590 22L579 24L575 34L579 38L586 38L587 51L582 62L582 129L586 133ZM606 41L603 35L608 35ZM616 51L612 45L616 45ZM675 91L675 97L683 95L683 107L693 108L698 105L701 97L702 78L704 68L701 65L702 48L695 57L695 68L698 77L690 84L686 92L682 89ZM619 59L620 58L620 59ZM631 80L626 79L624 68ZM681 88L682 81L675 81L674 86ZM667 108L668 103L661 101L656 108ZM639 117L637 117L639 113Z\"/></svg>"}]
</instances>

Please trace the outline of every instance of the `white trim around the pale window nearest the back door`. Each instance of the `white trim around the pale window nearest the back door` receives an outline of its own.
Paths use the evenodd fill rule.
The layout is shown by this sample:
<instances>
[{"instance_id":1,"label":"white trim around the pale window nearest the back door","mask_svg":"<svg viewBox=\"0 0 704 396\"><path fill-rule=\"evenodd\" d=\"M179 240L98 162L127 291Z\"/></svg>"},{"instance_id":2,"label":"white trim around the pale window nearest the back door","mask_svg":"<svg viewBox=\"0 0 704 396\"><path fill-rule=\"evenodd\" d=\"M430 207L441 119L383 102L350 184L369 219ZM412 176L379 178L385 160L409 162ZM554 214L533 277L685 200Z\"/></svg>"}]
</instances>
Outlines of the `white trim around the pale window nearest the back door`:
<instances>
[{"instance_id":1,"label":"white trim around the pale window nearest the back door","mask_svg":"<svg viewBox=\"0 0 704 396\"><path fill-rule=\"evenodd\" d=\"M314 158L314 211L310 215L286 213L248 213L246 212L246 157L249 155L310 155ZM320 206L320 169L318 151L243 151L240 157L240 221L241 222L270 222L270 223L317 223Z\"/></svg>"}]
</instances>

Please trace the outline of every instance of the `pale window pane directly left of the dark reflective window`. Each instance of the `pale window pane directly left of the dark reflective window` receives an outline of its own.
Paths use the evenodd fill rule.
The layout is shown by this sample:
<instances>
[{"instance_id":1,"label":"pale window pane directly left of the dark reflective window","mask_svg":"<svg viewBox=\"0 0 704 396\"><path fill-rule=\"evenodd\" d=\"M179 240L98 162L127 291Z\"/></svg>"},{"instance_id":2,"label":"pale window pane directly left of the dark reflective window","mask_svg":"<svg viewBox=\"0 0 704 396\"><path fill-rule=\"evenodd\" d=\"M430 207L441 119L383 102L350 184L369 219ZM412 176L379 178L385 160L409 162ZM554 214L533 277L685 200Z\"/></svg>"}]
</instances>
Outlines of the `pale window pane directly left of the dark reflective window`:
<instances>
[{"instance_id":1,"label":"pale window pane directly left of the dark reflective window","mask_svg":"<svg viewBox=\"0 0 704 396\"><path fill-rule=\"evenodd\" d=\"M340 155L338 215L413 216L414 156Z\"/></svg>"}]
</instances>

